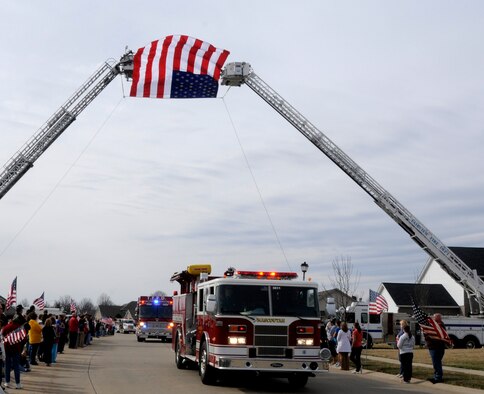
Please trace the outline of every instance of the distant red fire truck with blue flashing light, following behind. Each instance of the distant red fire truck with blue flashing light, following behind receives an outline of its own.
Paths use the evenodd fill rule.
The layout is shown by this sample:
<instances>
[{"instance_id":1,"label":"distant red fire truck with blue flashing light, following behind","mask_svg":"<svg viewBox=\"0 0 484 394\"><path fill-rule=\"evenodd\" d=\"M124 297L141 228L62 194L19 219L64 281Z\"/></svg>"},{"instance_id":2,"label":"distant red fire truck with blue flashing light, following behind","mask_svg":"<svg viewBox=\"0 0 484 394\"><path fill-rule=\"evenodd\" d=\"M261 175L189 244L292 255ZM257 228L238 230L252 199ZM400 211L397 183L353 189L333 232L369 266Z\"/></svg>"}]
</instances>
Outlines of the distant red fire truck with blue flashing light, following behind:
<instances>
[{"instance_id":1,"label":"distant red fire truck with blue flashing light, following behind","mask_svg":"<svg viewBox=\"0 0 484 394\"><path fill-rule=\"evenodd\" d=\"M138 297L136 305L136 338L138 342L155 338L171 340L173 298L157 296Z\"/></svg>"}]
</instances>

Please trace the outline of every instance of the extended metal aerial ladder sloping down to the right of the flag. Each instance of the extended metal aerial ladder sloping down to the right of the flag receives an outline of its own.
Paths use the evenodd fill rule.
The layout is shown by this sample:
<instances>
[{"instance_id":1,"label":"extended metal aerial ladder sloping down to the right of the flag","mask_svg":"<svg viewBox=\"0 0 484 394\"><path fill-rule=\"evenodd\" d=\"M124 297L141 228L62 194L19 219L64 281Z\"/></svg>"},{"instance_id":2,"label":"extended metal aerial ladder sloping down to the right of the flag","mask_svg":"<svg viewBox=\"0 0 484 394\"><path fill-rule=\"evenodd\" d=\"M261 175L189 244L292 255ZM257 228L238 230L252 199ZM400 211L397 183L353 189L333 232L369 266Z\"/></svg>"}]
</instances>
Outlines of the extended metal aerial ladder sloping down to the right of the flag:
<instances>
[{"instance_id":1,"label":"extended metal aerial ladder sloping down to the right of the flag","mask_svg":"<svg viewBox=\"0 0 484 394\"><path fill-rule=\"evenodd\" d=\"M399 203L395 197L378 184L322 131L318 130L299 111L259 78L252 70L250 64L244 62L227 64L222 73L222 85L241 86L244 83L367 192L381 209L438 262L444 271L462 285L469 298L472 313L475 314L476 309L478 309L478 313L484 315L484 282L479 278L476 270L470 269L408 209ZM475 308L476 303L478 308Z\"/></svg>"}]
</instances>

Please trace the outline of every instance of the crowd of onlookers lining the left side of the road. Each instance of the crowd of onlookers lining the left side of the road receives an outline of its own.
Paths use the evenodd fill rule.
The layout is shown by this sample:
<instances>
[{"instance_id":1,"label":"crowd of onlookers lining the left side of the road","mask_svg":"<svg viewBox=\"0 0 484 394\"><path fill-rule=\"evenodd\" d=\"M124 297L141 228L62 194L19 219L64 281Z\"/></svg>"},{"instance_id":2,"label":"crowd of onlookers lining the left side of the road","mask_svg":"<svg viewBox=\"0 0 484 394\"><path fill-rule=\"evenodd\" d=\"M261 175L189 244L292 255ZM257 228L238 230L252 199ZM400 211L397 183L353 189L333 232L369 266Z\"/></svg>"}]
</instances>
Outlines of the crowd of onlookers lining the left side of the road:
<instances>
[{"instance_id":1,"label":"crowd of onlookers lining the left side of the road","mask_svg":"<svg viewBox=\"0 0 484 394\"><path fill-rule=\"evenodd\" d=\"M57 362L57 355L64 353L66 345L70 349L89 346L94 337L114 333L109 325L95 320L89 314L77 316L52 315L44 310L37 314L32 305L24 313L22 305L16 313L7 317L5 305L0 305L0 376L2 387L14 387L10 383L14 372L15 388L21 389L21 372L30 372L32 366L44 363L47 367ZM5 340L5 338L9 338ZM15 339L10 339L15 338Z\"/></svg>"}]
</instances>

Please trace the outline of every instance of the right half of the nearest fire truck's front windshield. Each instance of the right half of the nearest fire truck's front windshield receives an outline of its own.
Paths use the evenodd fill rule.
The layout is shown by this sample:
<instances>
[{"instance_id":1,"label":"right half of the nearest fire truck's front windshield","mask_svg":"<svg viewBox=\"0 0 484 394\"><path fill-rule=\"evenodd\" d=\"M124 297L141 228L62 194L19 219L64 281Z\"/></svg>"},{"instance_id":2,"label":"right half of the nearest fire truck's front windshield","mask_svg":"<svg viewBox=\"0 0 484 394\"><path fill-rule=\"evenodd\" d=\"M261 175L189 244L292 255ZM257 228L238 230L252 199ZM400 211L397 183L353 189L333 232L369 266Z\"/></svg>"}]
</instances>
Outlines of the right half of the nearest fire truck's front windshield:
<instances>
[{"instance_id":1,"label":"right half of the nearest fire truck's front windshield","mask_svg":"<svg viewBox=\"0 0 484 394\"><path fill-rule=\"evenodd\" d=\"M307 287L272 286L274 316L318 317L316 289Z\"/></svg>"}]
</instances>

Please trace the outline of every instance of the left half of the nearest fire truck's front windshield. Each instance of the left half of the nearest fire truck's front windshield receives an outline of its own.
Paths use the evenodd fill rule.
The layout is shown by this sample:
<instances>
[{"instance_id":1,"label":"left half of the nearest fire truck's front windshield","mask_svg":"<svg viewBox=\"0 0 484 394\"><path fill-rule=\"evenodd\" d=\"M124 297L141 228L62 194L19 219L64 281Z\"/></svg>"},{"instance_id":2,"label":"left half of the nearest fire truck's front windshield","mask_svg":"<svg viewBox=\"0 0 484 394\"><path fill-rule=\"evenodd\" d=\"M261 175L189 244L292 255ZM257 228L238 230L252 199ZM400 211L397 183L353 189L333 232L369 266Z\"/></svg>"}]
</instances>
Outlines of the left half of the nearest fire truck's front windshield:
<instances>
[{"instance_id":1,"label":"left half of the nearest fire truck's front windshield","mask_svg":"<svg viewBox=\"0 0 484 394\"><path fill-rule=\"evenodd\" d=\"M219 313L225 315L268 315L268 286L222 285L217 288Z\"/></svg>"}]
</instances>

